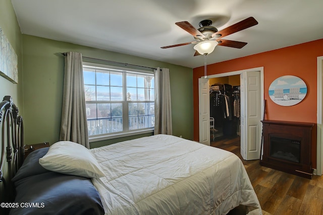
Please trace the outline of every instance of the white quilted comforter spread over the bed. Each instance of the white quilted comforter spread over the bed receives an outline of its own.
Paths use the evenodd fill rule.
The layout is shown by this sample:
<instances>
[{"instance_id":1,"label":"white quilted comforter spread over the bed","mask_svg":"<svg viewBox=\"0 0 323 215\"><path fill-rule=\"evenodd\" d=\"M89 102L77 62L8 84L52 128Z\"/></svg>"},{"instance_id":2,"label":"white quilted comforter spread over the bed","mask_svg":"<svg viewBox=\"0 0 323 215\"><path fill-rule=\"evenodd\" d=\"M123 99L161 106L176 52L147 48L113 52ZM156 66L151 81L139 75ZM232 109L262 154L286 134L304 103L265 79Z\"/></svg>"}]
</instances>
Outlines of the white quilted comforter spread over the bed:
<instances>
[{"instance_id":1,"label":"white quilted comforter spread over the bed","mask_svg":"<svg viewBox=\"0 0 323 215\"><path fill-rule=\"evenodd\" d=\"M262 214L234 154L158 134L92 149L105 177L92 179L105 214Z\"/></svg>"}]
</instances>

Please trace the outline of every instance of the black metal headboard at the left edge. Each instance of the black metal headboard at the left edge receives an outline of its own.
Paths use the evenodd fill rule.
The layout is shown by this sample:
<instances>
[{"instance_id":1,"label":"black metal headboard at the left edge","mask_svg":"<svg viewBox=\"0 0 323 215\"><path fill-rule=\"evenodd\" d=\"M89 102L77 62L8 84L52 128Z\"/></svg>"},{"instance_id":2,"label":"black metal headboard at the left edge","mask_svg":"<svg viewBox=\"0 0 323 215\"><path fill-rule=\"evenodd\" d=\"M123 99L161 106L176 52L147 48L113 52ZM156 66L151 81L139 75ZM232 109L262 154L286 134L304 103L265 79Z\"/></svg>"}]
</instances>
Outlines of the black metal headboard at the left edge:
<instances>
[{"instance_id":1,"label":"black metal headboard at the left edge","mask_svg":"<svg viewBox=\"0 0 323 215\"><path fill-rule=\"evenodd\" d=\"M23 162L24 129L22 117L18 115L18 108L11 96L5 96L0 102L1 126L1 160L0 160L0 201L14 200L14 186L11 179L14 177ZM8 166L6 166L6 163ZM1 199L3 198L3 199Z\"/></svg>"}]
</instances>

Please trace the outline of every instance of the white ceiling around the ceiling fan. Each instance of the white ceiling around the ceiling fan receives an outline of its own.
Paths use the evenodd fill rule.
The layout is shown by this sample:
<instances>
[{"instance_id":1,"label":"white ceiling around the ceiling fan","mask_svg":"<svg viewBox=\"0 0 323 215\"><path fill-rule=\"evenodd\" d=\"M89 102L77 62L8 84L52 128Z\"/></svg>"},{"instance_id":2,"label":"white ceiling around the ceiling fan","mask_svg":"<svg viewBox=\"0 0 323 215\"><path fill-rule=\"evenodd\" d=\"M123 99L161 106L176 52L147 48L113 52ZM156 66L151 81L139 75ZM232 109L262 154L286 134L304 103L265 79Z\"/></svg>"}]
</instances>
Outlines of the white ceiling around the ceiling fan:
<instances>
[{"instance_id":1,"label":"white ceiling around the ceiling fan","mask_svg":"<svg viewBox=\"0 0 323 215\"><path fill-rule=\"evenodd\" d=\"M322 0L12 0L23 34L65 41L187 67L194 41L176 26L211 19L218 30L248 17L258 25L223 39L247 42L242 49L217 46L207 63L221 62L323 38ZM67 50L68 51L68 50Z\"/></svg>"}]
</instances>

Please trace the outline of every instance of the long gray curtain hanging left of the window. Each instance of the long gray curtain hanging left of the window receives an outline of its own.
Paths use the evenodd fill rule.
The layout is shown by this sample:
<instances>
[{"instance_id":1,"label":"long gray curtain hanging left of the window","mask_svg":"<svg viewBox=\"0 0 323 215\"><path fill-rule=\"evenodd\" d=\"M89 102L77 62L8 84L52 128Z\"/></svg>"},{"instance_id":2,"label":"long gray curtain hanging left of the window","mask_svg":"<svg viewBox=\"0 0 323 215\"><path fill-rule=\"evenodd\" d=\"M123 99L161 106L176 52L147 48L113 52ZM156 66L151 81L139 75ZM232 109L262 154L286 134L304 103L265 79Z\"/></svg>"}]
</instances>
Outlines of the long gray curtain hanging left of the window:
<instances>
[{"instance_id":1,"label":"long gray curtain hanging left of the window","mask_svg":"<svg viewBox=\"0 0 323 215\"><path fill-rule=\"evenodd\" d=\"M82 54L65 55L64 92L60 140L77 142L90 148L83 80Z\"/></svg>"}]
</instances>

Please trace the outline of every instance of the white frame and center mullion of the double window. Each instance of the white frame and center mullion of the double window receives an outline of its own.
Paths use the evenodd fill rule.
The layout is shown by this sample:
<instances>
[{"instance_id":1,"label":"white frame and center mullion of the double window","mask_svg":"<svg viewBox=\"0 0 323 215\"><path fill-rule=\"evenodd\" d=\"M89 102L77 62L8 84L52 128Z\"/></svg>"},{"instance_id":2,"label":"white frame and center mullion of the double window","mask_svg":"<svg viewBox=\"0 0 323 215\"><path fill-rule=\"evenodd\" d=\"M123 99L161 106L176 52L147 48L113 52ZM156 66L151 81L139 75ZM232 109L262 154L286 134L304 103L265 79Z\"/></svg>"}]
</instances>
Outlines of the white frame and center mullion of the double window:
<instances>
[{"instance_id":1,"label":"white frame and center mullion of the double window","mask_svg":"<svg viewBox=\"0 0 323 215\"><path fill-rule=\"evenodd\" d=\"M129 110L128 110L128 104L129 103L149 103L154 101L127 101L127 86L126 86L126 74L127 72L135 72L135 73L142 73L142 74L152 74L153 71L148 70L141 70L141 69L134 69L134 68L125 68L125 67L119 67L119 66L112 66L112 65L105 65L105 64L99 64L99 63L90 63L90 62L84 62L83 66L91 67L92 69L110 69L110 70L118 70L124 72L123 76L123 101L109 101L109 103L122 103L123 104L123 131L121 132L114 132L114 133L105 133L105 134L96 134L96 135L89 135L89 142L94 141L100 141L100 140L106 140L106 139L113 139L113 138L119 138L119 137L125 137L125 136L132 136L137 134L144 134L144 133L152 133L154 130L154 127L148 127L148 128L142 128L142 129L135 129L135 130L129 130ZM85 103L100 103L101 101L95 101L95 102L87 102Z\"/></svg>"}]
</instances>

